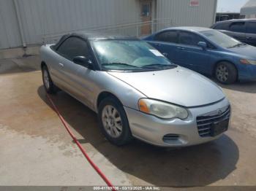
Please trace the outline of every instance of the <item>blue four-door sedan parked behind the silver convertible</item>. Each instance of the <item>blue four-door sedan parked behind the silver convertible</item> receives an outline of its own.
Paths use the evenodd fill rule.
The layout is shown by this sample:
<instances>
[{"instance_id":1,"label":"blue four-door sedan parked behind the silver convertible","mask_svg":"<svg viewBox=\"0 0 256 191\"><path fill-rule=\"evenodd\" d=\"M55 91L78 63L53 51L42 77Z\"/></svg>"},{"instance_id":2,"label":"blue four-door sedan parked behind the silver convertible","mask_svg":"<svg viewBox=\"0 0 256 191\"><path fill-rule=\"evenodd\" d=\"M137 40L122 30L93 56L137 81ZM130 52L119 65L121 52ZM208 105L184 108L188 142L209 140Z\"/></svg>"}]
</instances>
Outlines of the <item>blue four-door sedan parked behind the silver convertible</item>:
<instances>
[{"instance_id":1,"label":"blue four-door sedan parked behind the silver convertible","mask_svg":"<svg viewBox=\"0 0 256 191\"><path fill-rule=\"evenodd\" d=\"M210 28L167 28L144 38L173 63L232 84L256 80L256 47Z\"/></svg>"}]
</instances>

